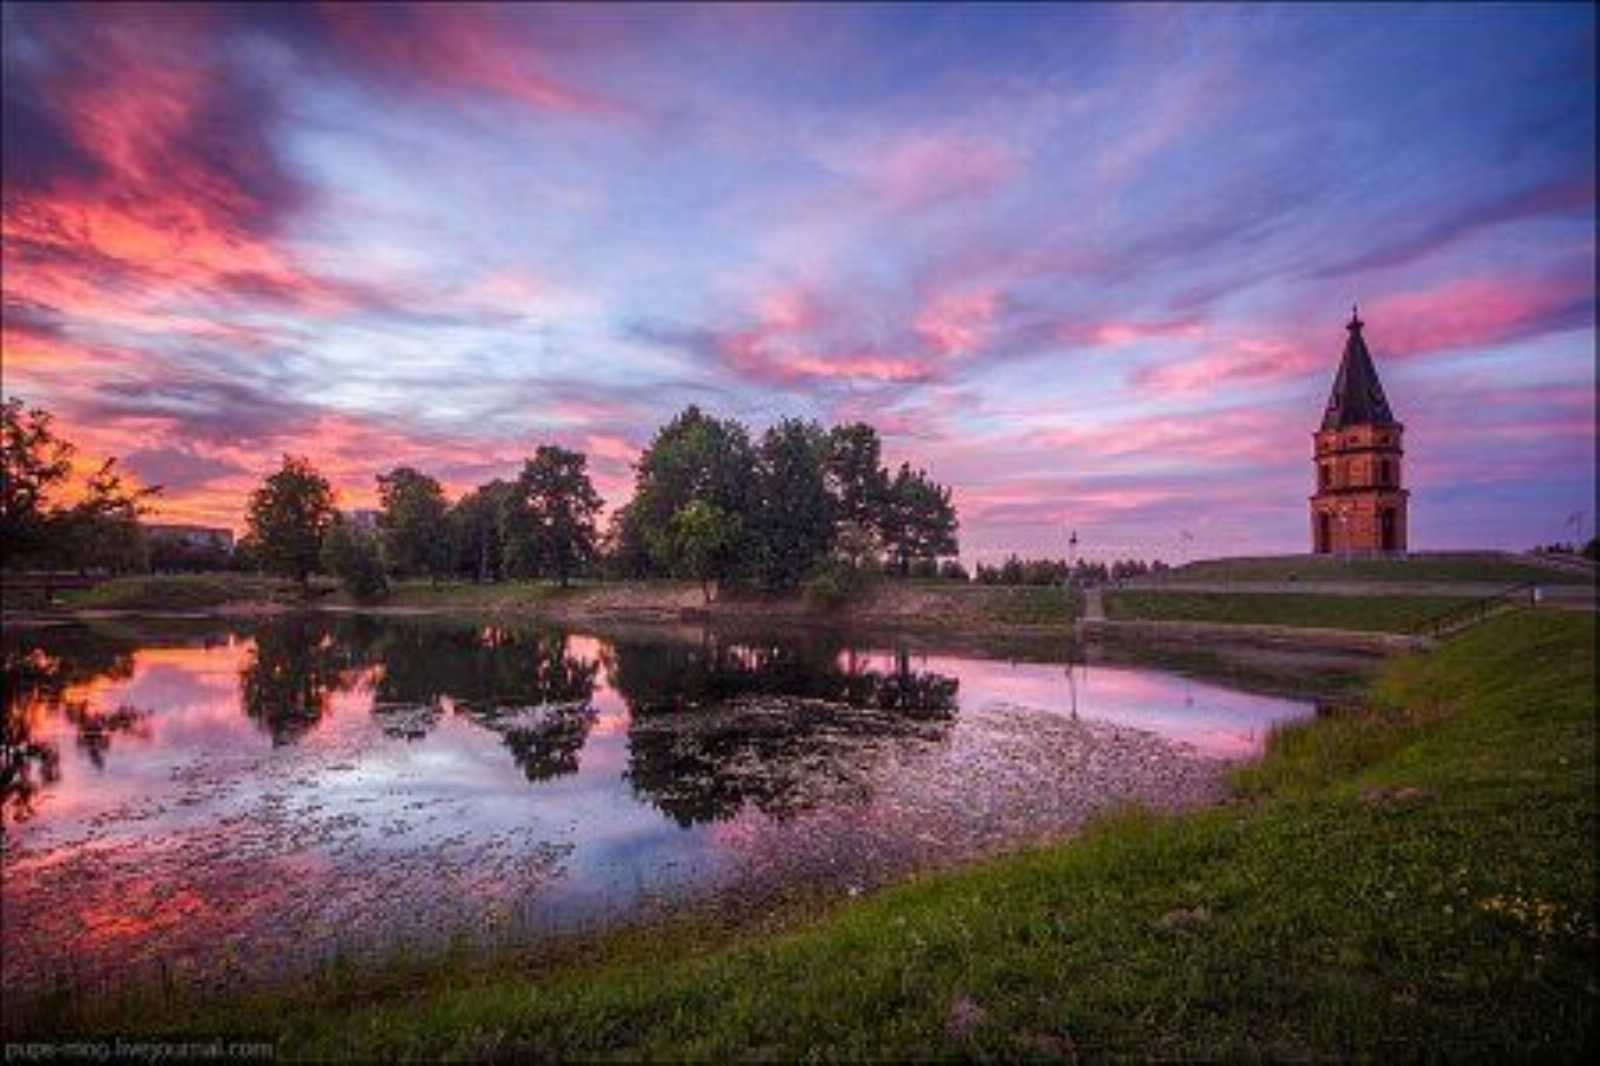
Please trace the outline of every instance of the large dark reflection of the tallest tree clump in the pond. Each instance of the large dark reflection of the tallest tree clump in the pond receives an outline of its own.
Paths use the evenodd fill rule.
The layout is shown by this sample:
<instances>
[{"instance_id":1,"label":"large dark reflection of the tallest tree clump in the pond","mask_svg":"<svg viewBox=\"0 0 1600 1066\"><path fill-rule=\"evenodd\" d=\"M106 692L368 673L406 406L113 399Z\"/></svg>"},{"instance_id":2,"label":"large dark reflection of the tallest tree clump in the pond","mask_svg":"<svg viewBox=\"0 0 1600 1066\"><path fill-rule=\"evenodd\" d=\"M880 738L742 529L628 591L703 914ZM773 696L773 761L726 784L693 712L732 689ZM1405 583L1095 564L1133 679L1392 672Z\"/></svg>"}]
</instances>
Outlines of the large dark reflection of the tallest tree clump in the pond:
<instances>
[{"instance_id":1,"label":"large dark reflection of the tallest tree clump in the pond","mask_svg":"<svg viewBox=\"0 0 1600 1066\"><path fill-rule=\"evenodd\" d=\"M634 712L627 779L682 826L862 795L882 743L944 735L958 685L906 653L864 669L824 637L618 643L608 671Z\"/></svg>"}]
</instances>

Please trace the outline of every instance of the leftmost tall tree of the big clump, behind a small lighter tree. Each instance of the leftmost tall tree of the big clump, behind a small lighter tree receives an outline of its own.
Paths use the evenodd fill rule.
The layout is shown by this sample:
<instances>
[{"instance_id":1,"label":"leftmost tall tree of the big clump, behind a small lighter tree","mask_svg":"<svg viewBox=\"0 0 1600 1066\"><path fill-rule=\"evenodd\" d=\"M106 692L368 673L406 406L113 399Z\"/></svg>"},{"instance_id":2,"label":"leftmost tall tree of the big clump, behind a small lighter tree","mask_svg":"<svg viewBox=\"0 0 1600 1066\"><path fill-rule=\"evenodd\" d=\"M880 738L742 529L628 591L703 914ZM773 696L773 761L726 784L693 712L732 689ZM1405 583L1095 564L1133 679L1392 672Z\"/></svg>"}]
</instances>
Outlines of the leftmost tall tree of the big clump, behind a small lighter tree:
<instances>
[{"instance_id":1,"label":"leftmost tall tree of the big clump, behind a small lighter tree","mask_svg":"<svg viewBox=\"0 0 1600 1066\"><path fill-rule=\"evenodd\" d=\"M699 499L728 515L749 515L754 474L755 448L736 419L712 418L691 405L656 431L638 458L629 504L656 565L672 570L678 562L670 523L690 503ZM738 552L725 552L718 565L731 570L736 559Z\"/></svg>"}]
</instances>

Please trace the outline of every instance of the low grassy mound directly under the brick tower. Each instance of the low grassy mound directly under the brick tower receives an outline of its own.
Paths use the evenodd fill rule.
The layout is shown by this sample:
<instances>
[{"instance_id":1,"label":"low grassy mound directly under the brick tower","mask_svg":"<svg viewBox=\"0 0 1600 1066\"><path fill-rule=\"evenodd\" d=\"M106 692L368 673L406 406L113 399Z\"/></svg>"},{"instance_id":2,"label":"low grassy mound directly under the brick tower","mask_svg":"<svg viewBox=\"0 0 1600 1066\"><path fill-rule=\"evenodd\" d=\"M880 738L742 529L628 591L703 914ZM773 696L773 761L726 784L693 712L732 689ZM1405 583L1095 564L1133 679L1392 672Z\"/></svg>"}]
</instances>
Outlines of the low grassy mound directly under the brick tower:
<instances>
[{"instance_id":1,"label":"low grassy mound directly under the brick tower","mask_svg":"<svg viewBox=\"0 0 1600 1066\"><path fill-rule=\"evenodd\" d=\"M1581 573L1541 567L1501 552L1411 555L1406 559L1339 559L1275 555L1205 559L1165 573L1166 581L1443 581L1474 584L1592 584Z\"/></svg>"}]
</instances>

